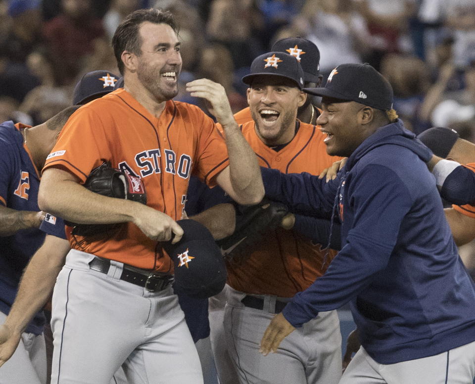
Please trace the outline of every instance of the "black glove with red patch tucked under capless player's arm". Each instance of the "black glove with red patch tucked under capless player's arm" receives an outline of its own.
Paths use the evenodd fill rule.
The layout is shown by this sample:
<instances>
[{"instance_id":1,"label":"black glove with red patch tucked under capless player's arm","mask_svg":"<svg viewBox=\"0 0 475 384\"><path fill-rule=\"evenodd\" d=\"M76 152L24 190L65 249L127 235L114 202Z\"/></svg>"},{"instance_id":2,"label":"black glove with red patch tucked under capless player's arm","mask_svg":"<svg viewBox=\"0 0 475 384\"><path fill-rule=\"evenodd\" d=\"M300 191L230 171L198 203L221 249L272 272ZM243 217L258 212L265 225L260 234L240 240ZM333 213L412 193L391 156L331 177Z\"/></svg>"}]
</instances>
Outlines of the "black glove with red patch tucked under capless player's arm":
<instances>
[{"instance_id":1,"label":"black glove with red patch tucked under capless player's arm","mask_svg":"<svg viewBox=\"0 0 475 384\"><path fill-rule=\"evenodd\" d=\"M130 175L128 172L112 168L110 163L102 163L94 168L84 183L88 190L108 197L116 197L147 203L147 196L138 177ZM73 227L72 235L84 237L101 238L112 236L124 223L113 224L77 224L65 221Z\"/></svg>"}]
</instances>

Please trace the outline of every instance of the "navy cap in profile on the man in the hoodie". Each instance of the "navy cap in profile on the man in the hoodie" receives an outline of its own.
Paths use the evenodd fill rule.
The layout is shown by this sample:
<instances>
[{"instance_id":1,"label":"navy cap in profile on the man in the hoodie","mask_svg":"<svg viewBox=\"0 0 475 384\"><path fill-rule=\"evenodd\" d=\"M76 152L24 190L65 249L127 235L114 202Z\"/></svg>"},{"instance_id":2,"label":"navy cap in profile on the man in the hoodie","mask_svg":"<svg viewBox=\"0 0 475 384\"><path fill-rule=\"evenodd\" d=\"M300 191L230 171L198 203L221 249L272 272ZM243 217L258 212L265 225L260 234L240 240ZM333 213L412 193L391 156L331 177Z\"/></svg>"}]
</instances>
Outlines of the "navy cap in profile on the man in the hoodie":
<instances>
[{"instance_id":1,"label":"navy cap in profile on the man in the hoodie","mask_svg":"<svg viewBox=\"0 0 475 384\"><path fill-rule=\"evenodd\" d=\"M392 109L392 87L369 64L341 64L330 73L325 88L304 88L310 95L356 101L373 108Z\"/></svg>"}]
</instances>

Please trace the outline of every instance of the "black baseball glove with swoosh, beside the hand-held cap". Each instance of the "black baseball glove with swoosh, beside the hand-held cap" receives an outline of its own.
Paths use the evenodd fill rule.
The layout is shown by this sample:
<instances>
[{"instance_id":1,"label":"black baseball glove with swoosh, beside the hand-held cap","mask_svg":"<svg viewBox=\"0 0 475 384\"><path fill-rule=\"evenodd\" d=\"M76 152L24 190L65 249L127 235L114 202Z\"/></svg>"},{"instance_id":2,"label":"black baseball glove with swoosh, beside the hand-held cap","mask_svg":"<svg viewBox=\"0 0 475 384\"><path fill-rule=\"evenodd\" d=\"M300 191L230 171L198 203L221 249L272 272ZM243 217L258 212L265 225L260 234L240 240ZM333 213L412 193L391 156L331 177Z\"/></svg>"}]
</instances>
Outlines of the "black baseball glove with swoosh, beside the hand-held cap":
<instances>
[{"instance_id":1,"label":"black baseball glove with swoosh, beside the hand-held cap","mask_svg":"<svg viewBox=\"0 0 475 384\"><path fill-rule=\"evenodd\" d=\"M284 204L267 199L257 205L238 205L234 233L216 241L224 258L231 263L242 263L256 245L279 226L287 213Z\"/></svg>"}]
</instances>

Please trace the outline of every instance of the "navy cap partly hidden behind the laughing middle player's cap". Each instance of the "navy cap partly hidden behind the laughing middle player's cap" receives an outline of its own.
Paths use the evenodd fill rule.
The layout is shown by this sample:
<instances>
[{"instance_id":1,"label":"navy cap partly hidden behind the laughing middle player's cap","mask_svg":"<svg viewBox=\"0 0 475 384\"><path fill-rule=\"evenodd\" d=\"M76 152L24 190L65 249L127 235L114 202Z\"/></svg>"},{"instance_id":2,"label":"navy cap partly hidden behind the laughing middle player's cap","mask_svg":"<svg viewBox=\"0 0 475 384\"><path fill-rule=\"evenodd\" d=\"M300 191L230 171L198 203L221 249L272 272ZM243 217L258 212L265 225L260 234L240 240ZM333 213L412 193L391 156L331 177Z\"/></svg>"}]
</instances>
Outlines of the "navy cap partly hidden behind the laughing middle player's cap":
<instances>
[{"instance_id":1,"label":"navy cap partly hidden behind the laughing middle player's cap","mask_svg":"<svg viewBox=\"0 0 475 384\"><path fill-rule=\"evenodd\" d=\"M302 66L306 83L319 81L320 50L310 40L300 36L281 39L274 43L271 50L287 52L294 56Z\"/></svg>"}]
</instances>

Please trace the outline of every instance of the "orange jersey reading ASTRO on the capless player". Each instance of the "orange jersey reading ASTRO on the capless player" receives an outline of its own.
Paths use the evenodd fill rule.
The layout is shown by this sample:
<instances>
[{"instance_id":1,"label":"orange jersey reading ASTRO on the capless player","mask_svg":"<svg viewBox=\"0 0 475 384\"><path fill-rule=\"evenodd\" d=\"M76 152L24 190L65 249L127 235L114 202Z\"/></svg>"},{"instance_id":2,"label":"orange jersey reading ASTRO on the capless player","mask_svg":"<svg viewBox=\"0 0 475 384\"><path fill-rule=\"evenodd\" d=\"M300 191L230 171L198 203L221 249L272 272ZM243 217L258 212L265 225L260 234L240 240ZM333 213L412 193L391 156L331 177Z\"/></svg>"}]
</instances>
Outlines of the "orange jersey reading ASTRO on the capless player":
<instances>
[{"instance_id":1,"label":"orange jersey reading ASTRO on the capless player","mask_svg":"<svg viewBox=\"0 0 475 384\"><path fill-rule=\"evenodd\" d=\"M197 106L169 100L159 118L123 88L79 108L48 155L45 168L60 167L84 183L103 161L142 178L147 205L182 218L190 174L208 185L226 168L228 151L213 121ZM171 271L157 242L133 223L115 237L93 242L71 238L71 247L139 268Z\"/></svg>"}]
</instances>

